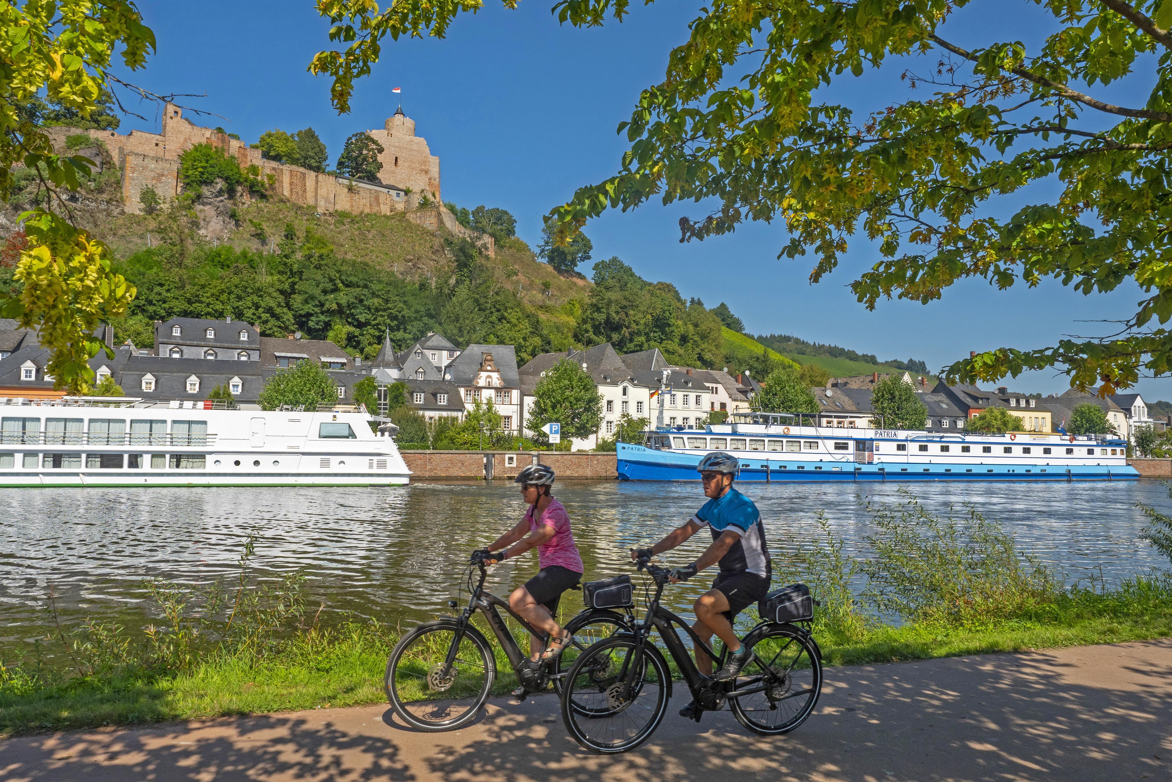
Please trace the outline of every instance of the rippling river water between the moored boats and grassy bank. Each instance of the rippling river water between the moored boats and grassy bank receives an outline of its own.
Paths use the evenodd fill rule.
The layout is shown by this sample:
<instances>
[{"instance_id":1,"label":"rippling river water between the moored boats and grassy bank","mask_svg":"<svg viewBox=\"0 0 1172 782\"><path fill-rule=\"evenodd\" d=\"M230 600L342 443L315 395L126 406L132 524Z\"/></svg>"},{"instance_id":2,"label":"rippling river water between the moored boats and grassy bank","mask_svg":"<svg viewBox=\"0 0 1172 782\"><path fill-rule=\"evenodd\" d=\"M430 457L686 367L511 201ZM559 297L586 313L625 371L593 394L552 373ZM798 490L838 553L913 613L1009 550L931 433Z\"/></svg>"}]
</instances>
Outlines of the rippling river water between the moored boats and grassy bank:
<instances>
[{"instance_id":1,"label":"rippling river water between the moored boats and grassy bank","mask_svg":"<svg viewBox=\"0 0 1172 782\"><path fill-rule=\"evenodd\" d=\"M893 484L781 483L742 487L761 508L775 559L818 535L825 511L852 553L864 551L873 502L899 502ZM1137 502L1168 510L1159 482L917 484L929 509L973 503L1002 523L1021 550L1056 565L1068 580L1118 579L1168 563L1137 537ZM628 548L647 544L703 502L699 483L564 481L565 503L587 579L631 571ZM962 509L958 508L958 514ZM386 489L12 489L0 491L0 652L46 630L50 590L64 621L137 612L142 579L200 583L236 572L241 544L258 536L255 562L270 571L304 569L327 612L413 624L447 611L468 553L522 516L511 482L430 483ZM701 540L701 538L703 538ZM696 536L690 562L710 538ZM536 553L493 570L498 594L537 570ZM697 579L699 582L699 579ZM700 583L672 587L683 610ZM573 608L579 593L571 593ZM2 654L0 654L2 657Z\"/></svg>"}]
</instances>

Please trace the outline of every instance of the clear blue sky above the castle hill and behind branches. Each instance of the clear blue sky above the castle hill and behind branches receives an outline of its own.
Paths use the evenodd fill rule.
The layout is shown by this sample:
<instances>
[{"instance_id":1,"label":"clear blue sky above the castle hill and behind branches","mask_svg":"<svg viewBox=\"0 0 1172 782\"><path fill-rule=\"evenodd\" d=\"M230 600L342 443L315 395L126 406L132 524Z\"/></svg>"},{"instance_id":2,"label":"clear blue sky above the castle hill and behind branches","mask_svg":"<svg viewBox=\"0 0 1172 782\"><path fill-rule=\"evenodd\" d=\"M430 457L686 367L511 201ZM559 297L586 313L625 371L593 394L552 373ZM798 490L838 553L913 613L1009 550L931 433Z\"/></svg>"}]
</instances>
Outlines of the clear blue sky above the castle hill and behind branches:
<instances>
[{"instance_id":1,"label":"clear blue sky above the castle hill and behind branches","mask_svg":"<svg viewBox=\"0 0 1172 782\"><path fill-rule=\"evenodd\" d=\"M670 47L686 40L691 4L659 4L602 28L559 27L552 2L523 2L506 11L489 0L479 14L459 18L445 40L387 41L382 61L359 83L349 115L329 104L329 83L306 72L313 54L328 48L328 25L307 0L173 2L141 0L158 39L148 67L128 75L157 93L206 93L185 104L222 115L197 124L222 124L247 142L272 128L313 127L331 159L357 130L381 128L403 110L438 155L444 200L463 206L503 206L518 218L518 233L537 244L541 216L577 186L613 174L625 149L615 135L639 91L662 79ZM1050 23L1031 4L984 1L948 25L961 45L993 35L1036 40ZM906 93L899 72L927 70L935 56L918 59L833 88L833 100L857 111L881 108ZM1143 76L1111 90L1116 98L1143 95ZM143 104L146 122L129 117L122 128L157 130L157 109ZM1034 197L1044 193L1031 192ZM1024 197L1008 208L1026 203ZM832 342L880 359L918 358L940 367L970 349L1037 348L1063 335L1098 335L1134 312L1133 285L1085 297L1057 283L999 292L981 280L959 284L941 301L881 302L867 312L846 287L875 260L865 242L838 271L811 286L811 259L778 260L786 237L778 225L745 225L702 243L679 243L681 215L703 215L696 204L657 203L607 213L586 227L594 259L618 256L642 277L668 280L684 297L715 306L725 301L751 333L789 333ZM588 273L588 268L580 271ZM1008 385L1024 392L1061 393L1064 376L1030 373ZM1149 399L1172 399L1172 381L1144 380Z\"/></svg>"}]
</instances>

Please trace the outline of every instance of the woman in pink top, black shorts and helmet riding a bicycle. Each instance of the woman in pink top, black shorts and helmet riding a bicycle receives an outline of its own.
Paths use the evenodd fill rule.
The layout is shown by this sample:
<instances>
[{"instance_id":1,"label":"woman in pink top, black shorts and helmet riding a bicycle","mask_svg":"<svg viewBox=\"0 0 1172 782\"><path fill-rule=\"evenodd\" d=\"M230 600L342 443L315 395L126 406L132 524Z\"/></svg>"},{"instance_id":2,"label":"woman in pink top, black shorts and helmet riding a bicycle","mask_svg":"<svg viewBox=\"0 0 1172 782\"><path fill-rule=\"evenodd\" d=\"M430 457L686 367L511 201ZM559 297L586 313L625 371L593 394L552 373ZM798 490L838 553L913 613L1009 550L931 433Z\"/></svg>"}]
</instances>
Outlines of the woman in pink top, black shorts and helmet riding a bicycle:
<instances>
[{"instance_id":1,"label":"woman in pink top, black shorts and helmet riding a bicycle","mask_svg":"<svg viewBox=\"0 0 1172 782\"><path fill-rule=\"evenodd\" d=\"M574 545L570 516L565 506L550 494L553 470L544 464L530 464L520 471L516 483L520 484L520 495L530 505L525 517L473 557L493 563L537 549L540 571L524 586L513 590L509 596L509 606L532 627L550 634L550 642L544 646L544 652L540 639L529 639L530 659L538 662L557 658L573 641L573 637L563 631L553 617L561 593L581 580L585 569L578 546ZM500 551L502 549L506 550Z\"/></svg>"}]
</instances>

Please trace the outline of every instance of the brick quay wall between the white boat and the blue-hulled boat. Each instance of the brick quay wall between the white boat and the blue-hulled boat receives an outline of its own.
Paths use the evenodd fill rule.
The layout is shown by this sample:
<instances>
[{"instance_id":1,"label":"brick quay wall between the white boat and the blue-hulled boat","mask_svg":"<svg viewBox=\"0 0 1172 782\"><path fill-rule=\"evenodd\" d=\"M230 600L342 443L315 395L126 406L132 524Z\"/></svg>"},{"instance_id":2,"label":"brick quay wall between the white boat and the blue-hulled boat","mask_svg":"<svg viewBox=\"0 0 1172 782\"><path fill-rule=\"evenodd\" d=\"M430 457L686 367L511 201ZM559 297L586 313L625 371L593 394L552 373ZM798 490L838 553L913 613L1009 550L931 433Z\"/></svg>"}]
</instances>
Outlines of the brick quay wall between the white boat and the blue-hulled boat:
<instances>
[{"instance_id":1,"label":"brick quay wall between the white boat and the blue-hulled boat","mask_svg":"<svg viewBox=\"0 0 1172 782\"><path fill-rule=\"evenodd\" d=\"M527 464L546 464L559 478L615 477L615 455L587 451L404 450L411 480L511 478Z\"/></svg>"}]
</instances>

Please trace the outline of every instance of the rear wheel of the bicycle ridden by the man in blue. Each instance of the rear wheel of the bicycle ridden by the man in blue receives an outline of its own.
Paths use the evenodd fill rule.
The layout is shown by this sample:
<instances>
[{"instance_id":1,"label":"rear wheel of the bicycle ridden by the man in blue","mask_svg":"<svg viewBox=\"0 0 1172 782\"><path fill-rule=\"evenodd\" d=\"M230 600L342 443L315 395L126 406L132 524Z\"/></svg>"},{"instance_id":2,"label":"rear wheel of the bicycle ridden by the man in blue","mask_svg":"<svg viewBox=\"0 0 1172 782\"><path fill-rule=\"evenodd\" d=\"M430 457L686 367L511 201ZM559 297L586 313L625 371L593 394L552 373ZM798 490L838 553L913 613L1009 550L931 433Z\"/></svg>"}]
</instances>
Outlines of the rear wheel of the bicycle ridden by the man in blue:
<instances>
[{"instance_id":1,"label":"rear wheel of the bicycle ridden by the man in blue","mask_svg":"<svg viewBox=\"0 0 1172 782\"><path fill-rule=\"evenodd\" d=\"M822 660L809 637L797 627L774 625L752 645L754 658L741 671L737 689L756 689L729 698L737 721L762 735L789 733L813 713L822 693Z\"/></svg>"}]
</instances>

